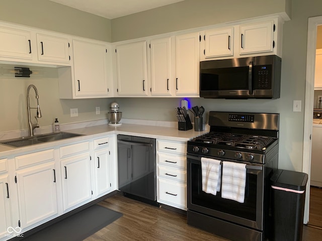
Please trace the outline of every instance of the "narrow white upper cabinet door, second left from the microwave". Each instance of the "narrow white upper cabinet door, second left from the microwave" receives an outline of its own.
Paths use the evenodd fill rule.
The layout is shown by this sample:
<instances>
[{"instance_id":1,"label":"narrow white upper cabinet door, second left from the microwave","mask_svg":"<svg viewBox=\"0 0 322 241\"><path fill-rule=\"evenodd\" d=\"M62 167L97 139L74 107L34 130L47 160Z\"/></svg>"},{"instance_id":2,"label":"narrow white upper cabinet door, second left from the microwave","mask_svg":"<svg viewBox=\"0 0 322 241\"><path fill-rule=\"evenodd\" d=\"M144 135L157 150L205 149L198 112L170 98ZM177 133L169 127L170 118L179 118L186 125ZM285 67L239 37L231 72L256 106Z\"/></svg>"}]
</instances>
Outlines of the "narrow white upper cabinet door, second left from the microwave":
<instances>
[{"instance_id":1,"label":"narrow white upper cabinet door, second left from the microwave","mask_svg":"<svg viewBox=\"0 0 322 241\"><path fill-rule=\"evenodd\" d=\"M151 94L171 95L171 38L151 40Z\"/></svg>"}]
</instances>

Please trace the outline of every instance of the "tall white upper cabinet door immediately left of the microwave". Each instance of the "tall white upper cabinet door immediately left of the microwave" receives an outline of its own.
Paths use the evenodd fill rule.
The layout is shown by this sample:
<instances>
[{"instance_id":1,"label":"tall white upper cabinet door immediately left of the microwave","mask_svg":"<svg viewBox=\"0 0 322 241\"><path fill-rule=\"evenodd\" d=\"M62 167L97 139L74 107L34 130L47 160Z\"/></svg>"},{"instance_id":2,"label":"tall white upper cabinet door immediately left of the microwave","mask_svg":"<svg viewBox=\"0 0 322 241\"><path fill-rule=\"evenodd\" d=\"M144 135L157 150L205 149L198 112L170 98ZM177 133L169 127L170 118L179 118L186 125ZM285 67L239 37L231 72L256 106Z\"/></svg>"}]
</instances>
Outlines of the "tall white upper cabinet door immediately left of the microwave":
<instances>
[{"instance_id":1,"label":"tall white upper cabinet door immediately left of the microwave","mask_svg":"<svg viewBox=\"0 0 322 241\"><path fill-rule=\"evenodd\" d=\"M199 33L176 37L176 94L199 97Z\"/></svg>"}]
</instances>

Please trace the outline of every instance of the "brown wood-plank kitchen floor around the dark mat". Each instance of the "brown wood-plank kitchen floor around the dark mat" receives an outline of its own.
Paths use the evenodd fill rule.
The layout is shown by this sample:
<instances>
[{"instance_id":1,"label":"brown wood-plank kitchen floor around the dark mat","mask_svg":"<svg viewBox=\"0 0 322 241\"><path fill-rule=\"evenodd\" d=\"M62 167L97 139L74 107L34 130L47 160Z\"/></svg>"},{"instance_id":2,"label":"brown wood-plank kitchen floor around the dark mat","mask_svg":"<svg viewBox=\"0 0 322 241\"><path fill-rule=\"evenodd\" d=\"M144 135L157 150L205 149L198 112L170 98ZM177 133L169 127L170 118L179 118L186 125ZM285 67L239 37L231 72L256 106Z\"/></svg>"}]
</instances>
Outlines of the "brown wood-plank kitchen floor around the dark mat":
<instances>
[{"instance_id":1,"label":"brown wood-plank kitchen floor around the dark mat","mask_svg":"<svg viewBox=\"0 0 322 241\"><path fill-rule=\"evenodd\" d=\"M99 204L121 212L123 216L85 239L87 241L228 240L188 225L186 215L138 202L120 194ZM303 241L321 240L321 237L322 229L304 225Z\"/></svg>"}]
</instances>

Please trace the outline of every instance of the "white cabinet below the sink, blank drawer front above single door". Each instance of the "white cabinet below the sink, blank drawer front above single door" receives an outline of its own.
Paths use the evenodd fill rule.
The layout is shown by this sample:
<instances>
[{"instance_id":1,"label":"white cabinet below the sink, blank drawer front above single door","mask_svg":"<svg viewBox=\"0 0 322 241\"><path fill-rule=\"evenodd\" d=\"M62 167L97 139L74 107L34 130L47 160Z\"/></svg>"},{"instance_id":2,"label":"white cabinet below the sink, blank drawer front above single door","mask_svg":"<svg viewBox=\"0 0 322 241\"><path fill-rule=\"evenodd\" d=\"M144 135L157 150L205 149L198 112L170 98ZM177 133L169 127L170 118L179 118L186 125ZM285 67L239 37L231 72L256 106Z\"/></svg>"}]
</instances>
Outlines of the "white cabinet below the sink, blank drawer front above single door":
<instances>
[{"instance_id":1,"label":"white cabinet below the sink, blank drawer front above single door","mask_svg":"<svg viewBox=\"0 0 322 241\"><path fill-rule=\"evenodd\" d=\"M58 215L54 149L15 158L20 227Z\"/></svg>"}]
</instances>

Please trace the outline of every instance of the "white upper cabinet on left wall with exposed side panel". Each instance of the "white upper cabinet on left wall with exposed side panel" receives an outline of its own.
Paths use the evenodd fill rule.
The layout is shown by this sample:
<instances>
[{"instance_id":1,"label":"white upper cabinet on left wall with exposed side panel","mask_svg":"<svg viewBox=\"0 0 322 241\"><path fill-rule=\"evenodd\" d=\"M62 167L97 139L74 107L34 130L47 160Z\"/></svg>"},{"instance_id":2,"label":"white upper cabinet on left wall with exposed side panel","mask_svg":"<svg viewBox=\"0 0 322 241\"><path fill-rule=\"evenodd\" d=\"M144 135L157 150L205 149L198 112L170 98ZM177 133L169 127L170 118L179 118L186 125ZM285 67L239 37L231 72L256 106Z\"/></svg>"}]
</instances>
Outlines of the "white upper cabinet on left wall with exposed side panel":
<instances>
[{"instance_id":1,"label":"white upper cabinet on left wall with exposed side panel","mask_svg":"<svg viewBox=\"0 0 322 241\"><path fill-rule=\"evenodd\" d=\"M59 97L112 96L110 46L104 42L73 39L73 65L58 68Z\"/></svg>"}]
</instances>

